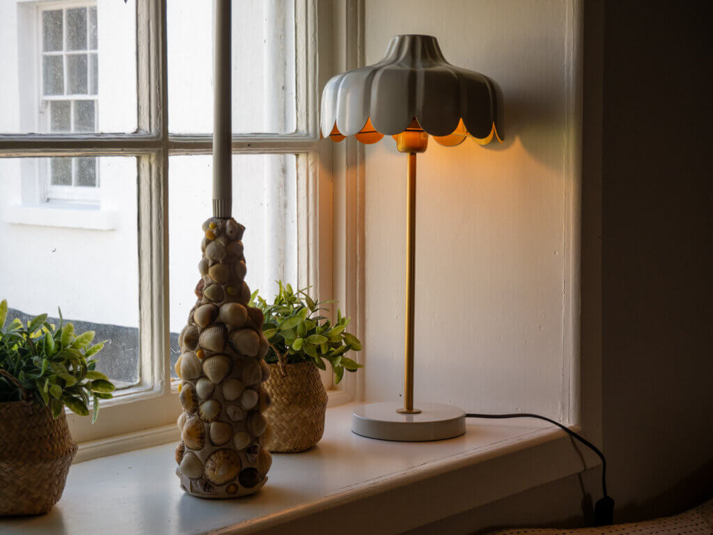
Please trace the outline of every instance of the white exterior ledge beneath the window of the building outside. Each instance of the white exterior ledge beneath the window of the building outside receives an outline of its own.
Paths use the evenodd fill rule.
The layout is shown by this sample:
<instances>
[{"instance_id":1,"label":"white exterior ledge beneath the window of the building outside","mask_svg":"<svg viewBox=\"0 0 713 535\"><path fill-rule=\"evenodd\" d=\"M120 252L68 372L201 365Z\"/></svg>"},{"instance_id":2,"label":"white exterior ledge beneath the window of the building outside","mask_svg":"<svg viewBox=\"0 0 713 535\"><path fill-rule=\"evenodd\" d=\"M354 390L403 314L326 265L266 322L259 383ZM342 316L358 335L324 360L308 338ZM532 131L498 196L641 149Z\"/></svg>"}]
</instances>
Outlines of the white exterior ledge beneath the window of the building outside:
<instances>
[{"instance_id":1,"label":"white exterior ledge beneath the window of the building outside","mask_svg":"<svg viewBox=\"0 0 713 535\"><path fill-rule=\"evenodd\" d=\"M42 227L113 230L117 213L93 206L48 203L34 206L8 206L2 210L4 223L39 225Z\"/></svg>"}]
</instances>

